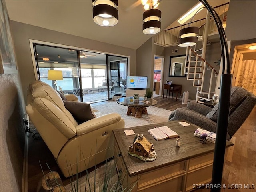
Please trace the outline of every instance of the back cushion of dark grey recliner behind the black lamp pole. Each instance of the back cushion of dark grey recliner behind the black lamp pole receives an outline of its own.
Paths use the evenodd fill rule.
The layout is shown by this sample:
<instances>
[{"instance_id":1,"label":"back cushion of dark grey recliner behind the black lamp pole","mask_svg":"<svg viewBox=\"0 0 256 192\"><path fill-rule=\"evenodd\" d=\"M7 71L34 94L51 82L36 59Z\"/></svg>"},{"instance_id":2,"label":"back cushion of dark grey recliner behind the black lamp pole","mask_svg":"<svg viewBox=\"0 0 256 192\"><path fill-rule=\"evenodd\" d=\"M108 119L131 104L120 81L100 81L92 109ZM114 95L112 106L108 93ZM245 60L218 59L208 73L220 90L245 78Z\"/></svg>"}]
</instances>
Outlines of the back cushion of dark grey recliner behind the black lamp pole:
<instances>
[{"instance_id":1,"label":"back cushion of dark grey recliner behind the black lamp pole","mask_svg":"<svg viewBox=\"0 0 256 192\"><path fill-rule=\"evenodd\" d=\"M230 110L229 113L232 114L234 110L246 99L248 96L248 91L242 87L232 87L231 88L231 98L230 98ZM217 122L219 112L219 105L216 104L211 112L209 112L206 117Z\"/></svg>"}]
</instances>

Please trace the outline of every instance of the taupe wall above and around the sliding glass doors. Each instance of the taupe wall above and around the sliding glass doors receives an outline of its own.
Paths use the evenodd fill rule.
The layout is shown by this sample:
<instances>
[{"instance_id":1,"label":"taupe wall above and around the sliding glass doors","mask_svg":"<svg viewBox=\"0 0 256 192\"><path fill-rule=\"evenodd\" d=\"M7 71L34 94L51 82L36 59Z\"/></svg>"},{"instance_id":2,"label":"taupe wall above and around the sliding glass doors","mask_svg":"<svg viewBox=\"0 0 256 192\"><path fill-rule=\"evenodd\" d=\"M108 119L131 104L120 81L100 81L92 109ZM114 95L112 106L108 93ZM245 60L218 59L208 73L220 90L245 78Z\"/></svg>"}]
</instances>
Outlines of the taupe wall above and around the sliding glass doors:
<instances>
[{"instance_id":1,"label":"taupe wall above and around the sliding glass doors","mask_svg":"<svg viewBox=\"0 0 256 192\"><path fill-rule=\"evenodd\" d=\"M56 32L20 22L11 21L10 26L13 32L17 63L20 68L20 77L22 79L21 84L25 100L28 84L35 80L29 39L75 46L78 48L84 48L85 50L90 49L99 52L130 56L130 73L136 74L136 50Z\"/></svg>"}]
</instances>

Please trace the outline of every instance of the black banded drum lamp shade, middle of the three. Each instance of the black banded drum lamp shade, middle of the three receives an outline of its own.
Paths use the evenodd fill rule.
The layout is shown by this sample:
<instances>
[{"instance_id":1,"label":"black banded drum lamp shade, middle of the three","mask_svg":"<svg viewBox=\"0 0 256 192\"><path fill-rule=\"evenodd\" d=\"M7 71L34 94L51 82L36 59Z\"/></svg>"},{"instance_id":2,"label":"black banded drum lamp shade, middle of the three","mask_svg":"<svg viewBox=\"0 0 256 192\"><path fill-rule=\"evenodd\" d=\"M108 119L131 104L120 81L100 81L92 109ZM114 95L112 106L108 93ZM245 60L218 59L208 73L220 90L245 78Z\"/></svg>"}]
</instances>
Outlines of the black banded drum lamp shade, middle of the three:
<instances>
[{"instance_id":1,"label":"black banded drum lamp shade, middle of the three","mask_svg":"<svg viewBox=\"0 0 256 192\"><path fill-rule=\"evenodd\" d=\"M143 13L143 33L152 35L161 31L161 11L150 9Z\"/></svg>"}]
</instances>

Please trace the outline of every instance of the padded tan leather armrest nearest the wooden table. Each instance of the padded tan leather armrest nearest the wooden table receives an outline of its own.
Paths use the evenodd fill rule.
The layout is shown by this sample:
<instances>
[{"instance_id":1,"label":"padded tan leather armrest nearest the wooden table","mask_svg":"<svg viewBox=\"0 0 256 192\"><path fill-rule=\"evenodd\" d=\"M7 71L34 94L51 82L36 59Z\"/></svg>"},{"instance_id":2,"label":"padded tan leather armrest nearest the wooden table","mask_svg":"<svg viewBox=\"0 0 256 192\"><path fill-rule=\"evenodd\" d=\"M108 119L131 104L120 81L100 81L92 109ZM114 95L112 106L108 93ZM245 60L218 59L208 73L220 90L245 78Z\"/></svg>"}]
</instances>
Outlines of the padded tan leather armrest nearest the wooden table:
<instances>
[{"instance_id":1,"label":"padded tan leather armrest nearest the wooden table","mask_svg":"<svg viewBox=\"0 0 256 192\"><path fill-rule=\"evenodd\" d=\"M121 118L120 114L109 113L106 115L102 115L76 126L76 135L79 136L82 134L86 134L94 130L106 127L108 125L116 124L120 121L123 121L123 124L121 124L120 128L124 128L124 120Z\"/></svg>"}]
</instances>

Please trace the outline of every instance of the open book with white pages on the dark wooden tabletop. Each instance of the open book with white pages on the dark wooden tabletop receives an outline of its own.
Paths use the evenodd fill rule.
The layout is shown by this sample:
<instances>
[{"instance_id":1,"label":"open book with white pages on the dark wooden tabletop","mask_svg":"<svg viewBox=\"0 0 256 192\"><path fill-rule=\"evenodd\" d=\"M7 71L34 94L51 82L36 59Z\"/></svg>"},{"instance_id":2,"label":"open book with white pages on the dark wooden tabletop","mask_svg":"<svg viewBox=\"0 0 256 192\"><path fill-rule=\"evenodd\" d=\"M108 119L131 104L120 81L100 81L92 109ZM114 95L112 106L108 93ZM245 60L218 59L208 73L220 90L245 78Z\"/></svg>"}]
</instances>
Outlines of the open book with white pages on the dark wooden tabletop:
<instances>
[{"instance_id":1,"label":"open book with white pages on the dark wooden tabletop","mask_svg":"<svg viewBox=\"0 0 256 192\"><path fill-rule=\"evenodd\" d=\"M168 138L174 138L178 137L178 134L168 128L168 126L163 126L163 127L156 127L154 129L148 130L148 132L157 140L164 140Z\"/></svg>"}]
</instances>

